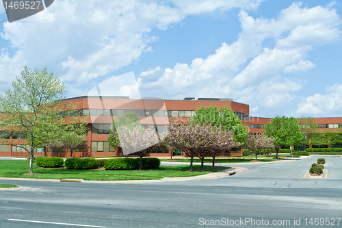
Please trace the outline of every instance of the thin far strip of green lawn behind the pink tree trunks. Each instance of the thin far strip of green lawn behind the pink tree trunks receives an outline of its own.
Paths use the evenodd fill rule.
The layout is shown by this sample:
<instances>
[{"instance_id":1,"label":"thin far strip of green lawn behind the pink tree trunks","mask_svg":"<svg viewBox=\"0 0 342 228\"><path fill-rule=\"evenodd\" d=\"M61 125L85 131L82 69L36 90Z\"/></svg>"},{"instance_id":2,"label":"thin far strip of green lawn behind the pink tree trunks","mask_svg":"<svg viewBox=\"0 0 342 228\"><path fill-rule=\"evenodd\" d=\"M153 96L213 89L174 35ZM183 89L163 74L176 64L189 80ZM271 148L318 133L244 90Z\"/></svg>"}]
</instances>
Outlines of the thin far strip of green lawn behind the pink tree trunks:
<instances>
[{"instance_id":1,"label":"thin far strip of green lawn behind the pink tree trunks","mask_svg":"<svg viewBox=\"0 0 342 228\"><path fill-rule=\"evenodd\" d=\"M259 157L259 156L258 156ZM280 160L280 159L278 159ZM275 158L258 158L258 161L261 162L274 162L278 161ZM254 162L255 161L255 155L250 157L234 157L234 158L216 158L215 164L220 163L245 163L245 162ZM161 159L161 162L190 162L190 158L172 158L172 160L168 158ZM194 162L200 162L200 159L194 158ZM205 163L212 163L213 159L205 158Z\"/></svg>"}]
</instances>

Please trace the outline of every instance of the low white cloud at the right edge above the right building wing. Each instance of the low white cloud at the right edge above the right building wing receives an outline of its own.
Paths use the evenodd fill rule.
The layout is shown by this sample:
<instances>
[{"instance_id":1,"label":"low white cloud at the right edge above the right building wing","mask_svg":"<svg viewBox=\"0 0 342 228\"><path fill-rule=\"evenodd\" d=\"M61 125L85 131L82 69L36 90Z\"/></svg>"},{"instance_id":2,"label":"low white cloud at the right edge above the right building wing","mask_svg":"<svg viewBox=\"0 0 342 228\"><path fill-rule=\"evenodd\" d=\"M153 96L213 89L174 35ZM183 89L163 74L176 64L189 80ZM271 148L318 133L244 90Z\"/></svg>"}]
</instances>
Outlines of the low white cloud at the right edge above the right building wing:
<instances>
[{"instance_id":1,"label":"low white cloud at the right edge above the right building wing","mask_svg":"<svg viewBox=\"0 0 342 228\"><path fill-rule=\"evenodd\" d=\"M306 97L299 105L296 114L341 115L342 84L327 87L328 94L316 93Z\"/></svg>"}]
</instances>

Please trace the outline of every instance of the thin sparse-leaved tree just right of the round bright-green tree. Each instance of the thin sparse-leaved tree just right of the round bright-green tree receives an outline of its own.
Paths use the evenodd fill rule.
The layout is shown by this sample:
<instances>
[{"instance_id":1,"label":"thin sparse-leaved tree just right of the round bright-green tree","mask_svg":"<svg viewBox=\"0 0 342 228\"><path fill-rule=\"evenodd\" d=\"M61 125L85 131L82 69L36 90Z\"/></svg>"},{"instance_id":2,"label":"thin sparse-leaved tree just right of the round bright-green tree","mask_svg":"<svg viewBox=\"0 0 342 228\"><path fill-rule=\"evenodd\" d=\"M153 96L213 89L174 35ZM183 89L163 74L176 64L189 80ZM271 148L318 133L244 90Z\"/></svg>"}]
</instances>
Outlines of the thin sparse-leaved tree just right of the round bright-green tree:
<instances>
[{"instance_id":1,"label":"thin sparse-leaved tree just right of the round bright-green tree","mask_svg":"<svg viewBox=\"0 0 342 228\"><path fill-rule=\"evenodd\" d=\"M311 116L302 116L298 118L297 121L300 126L300 131L303 134L302 145L305 151L306 147L311 144L313 137L317 133L317 121Z\"/></svg>"}]
</instances>

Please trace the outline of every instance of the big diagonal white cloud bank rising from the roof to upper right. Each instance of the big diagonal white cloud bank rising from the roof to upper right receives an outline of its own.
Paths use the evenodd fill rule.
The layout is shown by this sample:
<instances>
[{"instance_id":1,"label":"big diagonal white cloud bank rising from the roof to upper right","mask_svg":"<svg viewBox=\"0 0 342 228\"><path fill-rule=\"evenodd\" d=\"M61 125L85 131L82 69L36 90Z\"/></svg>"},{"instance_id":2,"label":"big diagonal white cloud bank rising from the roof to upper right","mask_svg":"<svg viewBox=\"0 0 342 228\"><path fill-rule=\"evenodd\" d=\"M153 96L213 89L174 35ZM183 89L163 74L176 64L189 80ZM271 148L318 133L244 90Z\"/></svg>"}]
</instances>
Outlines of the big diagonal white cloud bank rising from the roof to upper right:
<instances>
[{"instance_id":1,"label":"big diagonal white cloud bank rising from the roof to upper right","mask_svg":"<svg viewBox=\"0 0 342 228\"><path fill-rule=\"evenodd\" d=\"M297 99L295 92L306 82L293 73L316 66L307 60L308 51L337 42L341 34L337 12L320 5L303 8L293 3L277 18L252 18L241 10L239 21L242 31L237 41L224 42L213 55L192 64L142 73L142 90L179 99L230 97L254 105L254 111L282 107ZM274 47L263 47L266 39L274 40Z\"/></svg>"}]
</instances>

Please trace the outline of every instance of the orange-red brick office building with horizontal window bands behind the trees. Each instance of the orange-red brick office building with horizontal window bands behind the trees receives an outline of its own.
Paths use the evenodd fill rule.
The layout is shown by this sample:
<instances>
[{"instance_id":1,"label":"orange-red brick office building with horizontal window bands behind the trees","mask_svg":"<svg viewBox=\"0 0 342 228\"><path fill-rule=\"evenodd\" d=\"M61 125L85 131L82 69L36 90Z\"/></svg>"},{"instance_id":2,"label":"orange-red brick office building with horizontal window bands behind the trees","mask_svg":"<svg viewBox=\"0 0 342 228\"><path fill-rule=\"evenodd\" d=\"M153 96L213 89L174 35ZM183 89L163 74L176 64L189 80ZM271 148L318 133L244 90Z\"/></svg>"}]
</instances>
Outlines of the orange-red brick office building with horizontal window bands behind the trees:
<instances>
[{"instance_id":1,"label":"orange-red brick office building with horizontal window bands behind the trees","mask_svg":"<svg viewBox=\"0 0 342 228\"><path fill-rule=\"evenodd\" d=\"M111 147L107 142L111 123L116 116L135 112L140 118L140 123L146 127L157 127L159 132L163 131L168 125L169 118L177 122L187 122L200 106L222 106L231 107L237 114L241 123L246 125L251 133L262 133L265 124L272 118L259 118L249 116L249 105L237 103L232 99L218 98L192 98L187 97L184 100L161 100L161 99L129 99L129 97L75 97L66 99L64 102L76 102L77 110L70 112L71 116L87 116L88 132L86 136L87 148L81 151L73 152L76 157L93 156L117 156L118 151ZM321 128L337 128L342 124L342 118L316 118ZM5 134L5 132L0 132ZM0 145L0 157L27 156L27 152L21 147L28 148L26 140L20 134L5 136L10 140L11 145ZM21 144L21 147L16 145ZM181 151L173 151L176 155L183 156ZM35 149L35 155L43 155L42 149ZM51 152L47 150L48 156L69 156L70 152L60 151ZM155 156L169 156L169 152L152 153ZM226 156L242 155L242 151L235 150L233 153L226 153Z\"/></svg>"}]
</instances>

